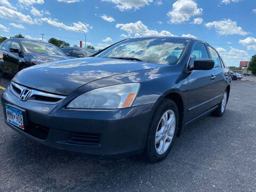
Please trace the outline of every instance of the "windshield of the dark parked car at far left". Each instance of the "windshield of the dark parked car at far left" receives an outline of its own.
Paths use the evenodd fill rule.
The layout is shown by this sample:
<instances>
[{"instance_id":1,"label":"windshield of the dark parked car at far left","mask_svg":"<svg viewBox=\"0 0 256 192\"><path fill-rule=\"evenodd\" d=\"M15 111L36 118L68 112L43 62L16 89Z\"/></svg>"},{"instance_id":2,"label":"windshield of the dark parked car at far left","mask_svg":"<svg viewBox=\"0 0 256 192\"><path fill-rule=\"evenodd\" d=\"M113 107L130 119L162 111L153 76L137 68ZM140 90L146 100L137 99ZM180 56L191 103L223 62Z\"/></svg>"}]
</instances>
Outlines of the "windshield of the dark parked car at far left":
<instances>
[{"instance_id":1,"label":"windshield of the dark parked car at far left","mask_svg":"<svg viewBox=\"0 0 256 192\"><path fill-rule=\"evenodd\" d=\"M20 41L27 53L43 53L50 55L65 55L59 48L41 42Z\"/></svg>"}]
</instances>

